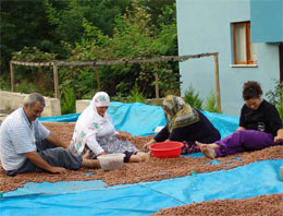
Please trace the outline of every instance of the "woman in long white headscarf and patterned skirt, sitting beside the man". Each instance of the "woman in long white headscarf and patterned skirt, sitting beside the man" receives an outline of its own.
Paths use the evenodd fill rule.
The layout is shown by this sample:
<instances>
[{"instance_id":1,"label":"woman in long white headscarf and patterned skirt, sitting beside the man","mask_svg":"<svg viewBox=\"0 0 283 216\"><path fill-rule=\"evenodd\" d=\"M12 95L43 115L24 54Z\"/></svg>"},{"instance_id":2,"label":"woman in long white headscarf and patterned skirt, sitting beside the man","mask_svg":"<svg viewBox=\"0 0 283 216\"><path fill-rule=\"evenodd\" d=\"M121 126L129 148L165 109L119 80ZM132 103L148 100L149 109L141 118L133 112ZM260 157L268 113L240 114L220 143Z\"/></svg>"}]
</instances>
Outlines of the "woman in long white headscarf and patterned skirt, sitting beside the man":
<instances>
[{"instance_id":1,"label":"woman in long white headscarf and patterned skirt, sitting beside the man","mask_svg":"<svg viewBox=\"0 0 283 216\"><path fill-rule=\"evenodd\" d=\"M124 161L144 161L149 154L138 149L120 134L106 112L110 105L109 95L98 92L90 105L79 116L70 148L78 155L86 154L95 159L99 155L123 153ZM89 152L88 152L89 149Z\"/></svg>"}]
</instances>

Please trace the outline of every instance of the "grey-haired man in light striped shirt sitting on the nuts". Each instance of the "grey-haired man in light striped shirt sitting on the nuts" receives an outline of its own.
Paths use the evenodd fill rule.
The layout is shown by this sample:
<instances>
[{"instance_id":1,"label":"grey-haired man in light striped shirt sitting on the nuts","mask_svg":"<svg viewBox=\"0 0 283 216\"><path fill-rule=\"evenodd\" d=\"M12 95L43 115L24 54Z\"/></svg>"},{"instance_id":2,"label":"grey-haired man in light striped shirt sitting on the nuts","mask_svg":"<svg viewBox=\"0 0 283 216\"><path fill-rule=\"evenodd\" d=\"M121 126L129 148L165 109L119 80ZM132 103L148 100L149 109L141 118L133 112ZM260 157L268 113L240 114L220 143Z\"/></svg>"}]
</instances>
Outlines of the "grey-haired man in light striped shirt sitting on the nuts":
<instances>
[{"instance_id":1,"label":"grey-haired man in light striped shirt sitting on the nuts","mask_svg":"<svg viewBox=\"0 0 283 216\"><path fill-rule=\"evenodd\" d=\"M97 160L73 155L69 144L62 143L37 118L45 108L45 98L33 93L24 100L24 107L9 115L0 128L1 164L7 175L49 171L64 173L81 166L99 167Z\"/></svg>"}]
</instances>

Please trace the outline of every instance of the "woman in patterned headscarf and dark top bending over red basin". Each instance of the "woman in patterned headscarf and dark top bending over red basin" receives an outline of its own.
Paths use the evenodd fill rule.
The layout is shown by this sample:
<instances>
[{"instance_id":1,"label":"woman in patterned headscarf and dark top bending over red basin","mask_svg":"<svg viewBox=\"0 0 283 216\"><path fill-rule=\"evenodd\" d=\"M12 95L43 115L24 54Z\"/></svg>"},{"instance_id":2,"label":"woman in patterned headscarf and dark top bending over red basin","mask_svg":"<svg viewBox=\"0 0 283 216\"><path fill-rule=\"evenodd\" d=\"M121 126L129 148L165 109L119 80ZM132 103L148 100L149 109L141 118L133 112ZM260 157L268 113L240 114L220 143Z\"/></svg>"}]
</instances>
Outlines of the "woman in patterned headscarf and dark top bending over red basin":
<instances>
[{"instance_id":1,"label":"woman in patterned headscarf and dark top bending over red basin","mask_svg":"<svg viewBox=\"0 0 283 216\"><path fill-rule=\"evenodd\" d=\"M197 109L184 101L182 97L169 95L164 98L162 108L167 118L167 125L147 144L145 148L157 142L183 142L182 154L199 152L196 141L214 142L220 139L219 131Z\"/></svg>"}]
</instances>

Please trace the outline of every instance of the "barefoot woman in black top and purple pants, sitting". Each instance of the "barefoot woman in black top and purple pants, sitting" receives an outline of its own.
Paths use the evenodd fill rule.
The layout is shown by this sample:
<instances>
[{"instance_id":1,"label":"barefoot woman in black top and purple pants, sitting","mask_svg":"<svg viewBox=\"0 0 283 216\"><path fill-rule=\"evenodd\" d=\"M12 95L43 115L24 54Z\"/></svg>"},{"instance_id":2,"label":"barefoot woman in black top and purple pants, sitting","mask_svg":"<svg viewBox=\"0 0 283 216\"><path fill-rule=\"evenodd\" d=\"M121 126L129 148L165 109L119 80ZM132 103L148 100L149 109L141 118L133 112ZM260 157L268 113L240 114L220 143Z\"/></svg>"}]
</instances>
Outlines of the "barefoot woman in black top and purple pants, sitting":
<instances>
[{"instance_id":1,"label":"barefoot woman in black top and purple pants, sitting","mask_svg":"<svg viewBox=\"0 0 283 216\"><path fill-rule=\"evenodd\" d=\"M282 121L276 108L261 98L260 84L246 82L243 89L239 127L212 144L196 142L206 157L216 158L279 145L283 141Z\"/></svg>"}]
</instances>

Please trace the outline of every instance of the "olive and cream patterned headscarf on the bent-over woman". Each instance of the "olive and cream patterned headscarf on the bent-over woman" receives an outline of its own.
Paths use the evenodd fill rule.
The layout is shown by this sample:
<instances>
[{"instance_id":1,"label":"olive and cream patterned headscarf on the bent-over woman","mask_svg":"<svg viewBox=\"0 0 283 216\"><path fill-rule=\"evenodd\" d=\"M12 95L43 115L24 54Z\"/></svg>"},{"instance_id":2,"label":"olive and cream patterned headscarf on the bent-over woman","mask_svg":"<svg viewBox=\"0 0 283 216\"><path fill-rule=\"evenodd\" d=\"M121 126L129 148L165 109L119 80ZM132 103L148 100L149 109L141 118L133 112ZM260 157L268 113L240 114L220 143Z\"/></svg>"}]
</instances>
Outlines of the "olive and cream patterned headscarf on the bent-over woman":
<instances>
[{"instance_id":1,"label":"olive and cream patterned headscarf on the bent-over woman","mask_svg":"<svg viewBox=\"0 0 283 216\"><path fill-rule=\"evenodd\" d=\"M164 98L162 108L165 112L168 130L190 125L199 121L198 112L184 101L182 97L169 95Z\"/></svg>"}]
</instances>

